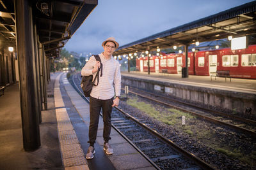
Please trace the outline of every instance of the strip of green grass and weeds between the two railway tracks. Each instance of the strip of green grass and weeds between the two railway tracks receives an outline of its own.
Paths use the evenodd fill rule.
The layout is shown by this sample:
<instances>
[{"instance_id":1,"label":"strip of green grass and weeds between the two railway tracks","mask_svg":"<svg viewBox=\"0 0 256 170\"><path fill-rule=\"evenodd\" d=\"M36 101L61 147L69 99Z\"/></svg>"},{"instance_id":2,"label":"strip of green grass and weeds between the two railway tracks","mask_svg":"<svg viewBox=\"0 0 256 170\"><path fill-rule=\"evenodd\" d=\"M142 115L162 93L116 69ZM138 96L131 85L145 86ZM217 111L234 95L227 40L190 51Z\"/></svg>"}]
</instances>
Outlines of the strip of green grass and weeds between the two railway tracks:
<instances>
[{"instance_id":1,"label":"strip of green grass and weeds between the two railway tracks","mask_svg":"<svg viewBox=\"0 0 256 170\"><path fill-rule=\"evenodd\" d=\"M214 143L208 143L207 140L214 138L214 132L211 130L197 130L196 131L196 124L189 125L189 122L191 122L195 116L190 115L189 113L184 113L179 110L175 110L173 108L166 108L163 109L161 112L156 110L155 106L152 104L147 104L144 102L139 102L138 97L130 97L127 101L127 104L130 106L137 108L138 110L143 111L146 113L149 117L156 118L156 120L159 120L167 125L173 125L175 126L175 129L180 129L183 132L186 132L189 135L194 135L196 138L205 141L207 143L207 146L217 150L218 152L221 152L228 157L232 157L235 159L239 159L242 162L245 162L247 164L254 164L253 162L256 161L256 151L252 151L252 153L247 153L246 155L244 153L241 153L240 148L236 149L230 149L230 148L220 148L220 144L214 144ZM181 125L181 117L186 117L186 125Z\"/></svg>"}]
</instances>

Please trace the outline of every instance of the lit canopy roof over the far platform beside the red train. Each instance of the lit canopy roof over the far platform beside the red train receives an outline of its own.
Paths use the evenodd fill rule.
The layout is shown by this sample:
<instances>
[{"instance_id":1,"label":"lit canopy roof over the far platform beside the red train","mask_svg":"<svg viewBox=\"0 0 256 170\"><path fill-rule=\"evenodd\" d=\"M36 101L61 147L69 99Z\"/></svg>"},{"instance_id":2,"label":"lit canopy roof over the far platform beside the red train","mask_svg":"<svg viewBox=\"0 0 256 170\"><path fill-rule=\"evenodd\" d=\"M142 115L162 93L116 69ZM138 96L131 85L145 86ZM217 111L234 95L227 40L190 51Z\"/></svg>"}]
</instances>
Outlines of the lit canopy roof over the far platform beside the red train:
<instances>
[{"instance_id":1,"label":"lit canopy roof over the far platform beside the red train","mask_svg":"<svg viewBox=\"0 0 256 170\"><path fill-rule=\"evenodd\" d=\"M256 1L253 1L120 46L113 55L255 34Z\"/></svg>"}]
</instances>

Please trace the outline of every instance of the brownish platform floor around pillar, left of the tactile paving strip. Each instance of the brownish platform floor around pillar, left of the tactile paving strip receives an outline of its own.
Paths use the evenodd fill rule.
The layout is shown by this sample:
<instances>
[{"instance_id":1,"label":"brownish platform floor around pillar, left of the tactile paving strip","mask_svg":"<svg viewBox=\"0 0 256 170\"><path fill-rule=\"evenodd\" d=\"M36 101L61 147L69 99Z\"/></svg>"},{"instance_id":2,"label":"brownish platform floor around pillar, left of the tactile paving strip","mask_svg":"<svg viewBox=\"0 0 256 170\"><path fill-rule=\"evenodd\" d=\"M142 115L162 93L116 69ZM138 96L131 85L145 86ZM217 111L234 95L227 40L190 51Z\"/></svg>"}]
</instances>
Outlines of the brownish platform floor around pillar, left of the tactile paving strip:
<instances>
[{"instance_id":1,"label":"brownish platform floor around pillar, left of the tactile paving strip","mask_svg":"<svg viewBox=\"0 0 256 170\"><path fill-rule=\"evenodd\" d=\"M51 74L52 79L56 74ZM47 91L53 91L50 81ZM25 152L22 141L19 84L6 87L0 97L0 169L64 169L58 141L53 97L47 97L48 109L42 111L41 146Z\"/></svg>"}]
</instances>

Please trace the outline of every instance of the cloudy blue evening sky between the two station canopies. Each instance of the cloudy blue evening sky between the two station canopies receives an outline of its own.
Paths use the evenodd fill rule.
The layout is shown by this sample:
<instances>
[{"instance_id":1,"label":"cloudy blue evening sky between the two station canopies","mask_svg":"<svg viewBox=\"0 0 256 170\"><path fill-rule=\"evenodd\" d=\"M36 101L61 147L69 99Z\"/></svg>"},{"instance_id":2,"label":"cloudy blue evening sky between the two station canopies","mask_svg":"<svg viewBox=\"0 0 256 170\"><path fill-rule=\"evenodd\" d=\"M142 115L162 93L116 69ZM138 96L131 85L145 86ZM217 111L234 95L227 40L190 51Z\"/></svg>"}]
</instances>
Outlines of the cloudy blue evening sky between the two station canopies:
<instances>
[{"instance_id":1,"label":"cloudy blue evening sky between the two station canopies","mask_svg":"<svg viewBox=\"0 0 256 170\"><path fill-rule=\"evenodd\" d=\"M109 37L115 37L120 46L126 45L251 1L99 0L64 48L83 56L97 54Z\"/></svg>"}]
</instances>

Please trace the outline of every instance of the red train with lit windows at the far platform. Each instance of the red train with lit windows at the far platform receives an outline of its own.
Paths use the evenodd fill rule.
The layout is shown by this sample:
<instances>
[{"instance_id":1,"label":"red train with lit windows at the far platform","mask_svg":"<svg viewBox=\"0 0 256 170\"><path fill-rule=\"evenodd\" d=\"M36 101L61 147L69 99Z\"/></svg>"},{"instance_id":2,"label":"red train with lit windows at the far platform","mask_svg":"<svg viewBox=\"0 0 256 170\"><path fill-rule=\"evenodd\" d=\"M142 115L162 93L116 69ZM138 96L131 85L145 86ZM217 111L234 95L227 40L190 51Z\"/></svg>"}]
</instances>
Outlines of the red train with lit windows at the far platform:
<instances>
[{"instance_id":1,"label":"red train with lit windows at the far platform","mask_svg":"<svg viewBox=\"0 0 256 170\"><path fill-rule=\"evenodd\" d=\"M136 70L148 71L147 57L136 59ZM180 74L185 66L184 53L170 53L150 57L150 72ZM228 70L232 78L256 79L256 45L243 50L220 50L189 52L188 70L191 75L209 76L217 70Z\"/></svg>"}]
</instances>

